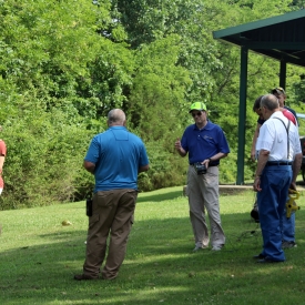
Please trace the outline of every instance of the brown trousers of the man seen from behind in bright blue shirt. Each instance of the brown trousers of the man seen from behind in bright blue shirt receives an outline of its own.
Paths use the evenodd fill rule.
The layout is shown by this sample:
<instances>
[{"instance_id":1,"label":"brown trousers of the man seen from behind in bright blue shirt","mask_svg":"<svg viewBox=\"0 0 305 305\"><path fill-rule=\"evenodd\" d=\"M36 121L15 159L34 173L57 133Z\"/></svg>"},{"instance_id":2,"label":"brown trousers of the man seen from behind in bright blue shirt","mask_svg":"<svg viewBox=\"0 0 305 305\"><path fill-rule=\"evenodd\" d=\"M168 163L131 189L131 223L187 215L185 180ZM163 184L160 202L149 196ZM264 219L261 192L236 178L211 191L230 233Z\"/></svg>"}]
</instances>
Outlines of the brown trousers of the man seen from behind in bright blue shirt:
<instances>
[{"instance_id":1,"label":"brown trousers of the man seen from behind in bright blue shirt","mask_svg":"<svg viewBox=\"0 0 305 305\"><path fill-rule=\"evenodd\" d=\"M108 236L110 235L102 277L112 279L118 276L126 253L136 197L138 191L129 189L103 191L94 194L92 216L89 217L87 255L83 264L84 275L92 278L99 277L100 267L106 254Z\"/></svg>"}]
</instances>

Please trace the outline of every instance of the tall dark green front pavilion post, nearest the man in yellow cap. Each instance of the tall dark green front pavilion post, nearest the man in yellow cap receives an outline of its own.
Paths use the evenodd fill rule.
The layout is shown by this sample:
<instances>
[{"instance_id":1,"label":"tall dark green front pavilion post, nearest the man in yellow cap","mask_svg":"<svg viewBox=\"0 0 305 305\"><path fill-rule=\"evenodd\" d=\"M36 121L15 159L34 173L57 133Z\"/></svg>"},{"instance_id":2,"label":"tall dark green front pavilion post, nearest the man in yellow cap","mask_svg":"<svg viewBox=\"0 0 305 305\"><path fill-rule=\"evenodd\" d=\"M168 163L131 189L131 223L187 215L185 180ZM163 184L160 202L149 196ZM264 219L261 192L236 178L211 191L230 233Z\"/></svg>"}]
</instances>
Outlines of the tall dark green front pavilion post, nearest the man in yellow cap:
<instances>
[{"instance_id":1,"label":"tall dark green front pavilion post, nearest the man in yellow cap","mask_svg":"<svg viewBox=\"0 0 305 305\"><path fill-rule=\"evenodd\" d=\"M237 185L244 184L247 57L248 57L248 49L243 45L241 48L238 151L237 151L237 179L236 179Z\"/></svg>"}]
</instances>

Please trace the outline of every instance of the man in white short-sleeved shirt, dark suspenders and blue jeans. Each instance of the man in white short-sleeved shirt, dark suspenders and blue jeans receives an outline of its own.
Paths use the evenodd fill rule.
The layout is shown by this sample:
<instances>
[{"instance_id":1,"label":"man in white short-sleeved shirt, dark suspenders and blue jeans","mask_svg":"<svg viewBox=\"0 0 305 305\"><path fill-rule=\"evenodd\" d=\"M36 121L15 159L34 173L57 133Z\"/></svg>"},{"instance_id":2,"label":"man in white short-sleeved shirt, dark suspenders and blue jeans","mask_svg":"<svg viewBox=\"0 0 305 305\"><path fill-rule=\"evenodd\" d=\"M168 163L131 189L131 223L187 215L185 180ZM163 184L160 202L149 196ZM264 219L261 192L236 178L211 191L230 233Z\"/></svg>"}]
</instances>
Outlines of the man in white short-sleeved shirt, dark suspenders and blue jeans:
<instances>
[{"instance_id":1,"label":"man in white short-sleeved shirt, dark suspenders and blue jeans","mask_svg":"<svg viewBox=\"0 0 305 305\"><path fill-rule=\"evenodd\" d=\"M302 150L297 128L279 110L273 94L262 98L261 110L266 122L260 130L256 149L260 151L254 191L257 193L263 251L254 256L258 263L284 262L281 217L287 201L288 189L296 189Z\"/></svg>"}]
</instances>

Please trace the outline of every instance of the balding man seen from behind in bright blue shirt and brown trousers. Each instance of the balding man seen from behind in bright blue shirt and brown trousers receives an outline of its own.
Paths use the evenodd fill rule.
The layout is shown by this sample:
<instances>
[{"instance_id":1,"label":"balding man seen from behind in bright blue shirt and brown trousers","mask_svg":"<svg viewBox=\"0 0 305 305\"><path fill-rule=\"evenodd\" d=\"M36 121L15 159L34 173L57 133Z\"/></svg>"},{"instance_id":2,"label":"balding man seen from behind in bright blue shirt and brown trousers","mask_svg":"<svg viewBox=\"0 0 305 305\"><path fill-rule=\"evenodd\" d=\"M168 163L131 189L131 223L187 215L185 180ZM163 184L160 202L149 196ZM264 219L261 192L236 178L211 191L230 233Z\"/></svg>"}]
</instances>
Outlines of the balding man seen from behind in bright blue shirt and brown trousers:
<instances>
[{"instance_id":1,"label":"balding man seen from behind in bright blue shirt and brown trousers","mask_svg":"<svg viewBox=\"0 0 305 305\"><path fill-rule=\"evenodd\" d=\"M103 279L118 276L123 263L138 197L138 173L149 170L145 146L125 128L125 114L113 109L109 129L95 135L84 157L84 167L94 174L92 215L89 217L83 273L74 279L96 279L106 254Z\"/></svg>"}]
</instances>

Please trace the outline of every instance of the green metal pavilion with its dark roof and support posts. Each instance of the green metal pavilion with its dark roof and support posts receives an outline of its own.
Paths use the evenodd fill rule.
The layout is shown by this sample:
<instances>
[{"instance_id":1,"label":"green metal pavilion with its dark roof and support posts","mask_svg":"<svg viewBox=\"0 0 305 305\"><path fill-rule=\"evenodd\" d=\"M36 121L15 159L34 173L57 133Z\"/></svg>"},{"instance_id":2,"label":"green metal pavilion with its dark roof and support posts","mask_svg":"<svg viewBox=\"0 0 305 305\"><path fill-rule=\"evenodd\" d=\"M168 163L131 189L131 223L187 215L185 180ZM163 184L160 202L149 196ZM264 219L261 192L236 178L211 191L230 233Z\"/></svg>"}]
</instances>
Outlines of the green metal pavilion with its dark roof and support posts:
<instances>
[{"instance_id":1,"label":"green metal pavilion with its dark roof and support posts","mask_svg":"<svg viewBox=\"0 0 305 305\"><path fill-rule=\"evenodd\" d=\"M213 37L241 47L236 184L243 184L248 50L279 61L279 85L285 88L286 65L305 68L305 10L214 31Z\"/></svg>"}]
</instances>

